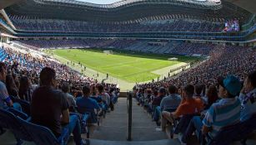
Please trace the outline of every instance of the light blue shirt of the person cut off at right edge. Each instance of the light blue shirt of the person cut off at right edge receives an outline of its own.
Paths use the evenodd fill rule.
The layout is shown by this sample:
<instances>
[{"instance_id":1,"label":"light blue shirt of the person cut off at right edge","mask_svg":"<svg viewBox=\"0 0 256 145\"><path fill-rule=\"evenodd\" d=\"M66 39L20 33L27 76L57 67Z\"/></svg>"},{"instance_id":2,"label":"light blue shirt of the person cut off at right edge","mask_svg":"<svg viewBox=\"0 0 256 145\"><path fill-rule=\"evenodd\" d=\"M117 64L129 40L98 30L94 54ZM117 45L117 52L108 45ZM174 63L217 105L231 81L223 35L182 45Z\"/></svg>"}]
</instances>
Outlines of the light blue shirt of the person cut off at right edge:
<instances>
[{"instance_id":1,"label":"light blue shirt of the person cut off at right edge","mask_svg":"<svg viewBox=\"0 0 256 145\"><path fill-rule=\"evenodd\" d=\"M255 102L252 102L250 99L247 100L247 97L254 99ZM241 121L245 121L256 113L256 89L253 89L246 95L240 94L239 99L242 103Z\"/></svg>"}]
</instances>

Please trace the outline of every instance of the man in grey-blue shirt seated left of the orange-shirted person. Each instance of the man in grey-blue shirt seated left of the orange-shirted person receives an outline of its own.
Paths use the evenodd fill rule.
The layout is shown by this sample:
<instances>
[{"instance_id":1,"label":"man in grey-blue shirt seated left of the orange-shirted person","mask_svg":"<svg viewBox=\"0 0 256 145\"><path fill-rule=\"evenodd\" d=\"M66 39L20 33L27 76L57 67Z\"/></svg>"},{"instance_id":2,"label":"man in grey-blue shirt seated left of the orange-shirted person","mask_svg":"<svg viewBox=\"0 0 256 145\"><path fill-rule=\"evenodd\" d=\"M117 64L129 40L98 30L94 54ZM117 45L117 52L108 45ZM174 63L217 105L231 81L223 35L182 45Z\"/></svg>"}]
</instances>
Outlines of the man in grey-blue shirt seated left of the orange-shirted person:
<instances>
[{"instance_id":1,"label":"man in grey-blue shirt seated left of the orange-shirted person","mask_svg":"<svg viewBox=\"0 0 256 145\"><path fill-rule=\"evenodd\" d=\"M170 85L168 88L169 95L164 97L161 101L160 108L162 110L168 108L178 108L178 105L181 102L181 97L177 94L177 88L175 85Z\"/></svg>"}]
</instances>

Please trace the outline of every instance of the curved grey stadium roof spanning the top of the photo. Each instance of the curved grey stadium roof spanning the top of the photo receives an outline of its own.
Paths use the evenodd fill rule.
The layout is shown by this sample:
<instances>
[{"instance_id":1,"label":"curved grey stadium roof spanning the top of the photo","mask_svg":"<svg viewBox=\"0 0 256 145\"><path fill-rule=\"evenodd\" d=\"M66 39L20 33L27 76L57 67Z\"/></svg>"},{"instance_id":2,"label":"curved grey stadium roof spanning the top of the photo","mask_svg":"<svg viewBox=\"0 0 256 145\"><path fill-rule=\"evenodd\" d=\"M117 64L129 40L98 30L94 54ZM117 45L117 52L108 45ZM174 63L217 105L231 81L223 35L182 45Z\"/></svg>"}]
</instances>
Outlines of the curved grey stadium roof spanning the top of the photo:
<instances>
[{"instance_id":1,"label":"curved grey stadium roof spanning the top of the photo","mask_svg":"<svg viewBox=\"0 0 256 145\"><path fill-rule=\"evenodd\" d=\"M248 0L243 0L248 1ZM95 4L77 0L26 0L7 7L8 15L71 19L88 22L125 22L144 17L182 15L247 22L251 12L219 0L122 0Z\"/></svg>"}]
</instances>

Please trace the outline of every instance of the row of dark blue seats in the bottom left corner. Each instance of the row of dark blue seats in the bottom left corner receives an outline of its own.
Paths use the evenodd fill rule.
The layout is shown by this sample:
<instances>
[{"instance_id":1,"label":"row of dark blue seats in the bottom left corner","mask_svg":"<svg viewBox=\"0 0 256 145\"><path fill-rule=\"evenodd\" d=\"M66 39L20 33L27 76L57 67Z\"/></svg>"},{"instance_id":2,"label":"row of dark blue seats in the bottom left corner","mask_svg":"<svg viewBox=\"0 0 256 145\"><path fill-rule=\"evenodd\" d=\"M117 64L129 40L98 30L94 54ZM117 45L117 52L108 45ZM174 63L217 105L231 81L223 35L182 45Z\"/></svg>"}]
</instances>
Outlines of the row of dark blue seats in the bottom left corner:
<instances>
[{"instance_id":1,"label":"row of dark blue seats in the bottom left corner","mask_svg":"<svg viewBox=\"0 0 256 145\"><path fill-rule=\"evenodd\" d=\"M38 145L67 144L69 138L68 129L63 132L60 136L61 138L56 138L50 129L30 123L30 118L20 118L19 114L17 114L18 111L16 110L15 112L16 114L13 114L11 111L0 109L0 126L12 131L17 144L22 144L23 141L33 142ZM83 118L83 123L86 123L87 119Z\"/></svg>"}]
</instances>

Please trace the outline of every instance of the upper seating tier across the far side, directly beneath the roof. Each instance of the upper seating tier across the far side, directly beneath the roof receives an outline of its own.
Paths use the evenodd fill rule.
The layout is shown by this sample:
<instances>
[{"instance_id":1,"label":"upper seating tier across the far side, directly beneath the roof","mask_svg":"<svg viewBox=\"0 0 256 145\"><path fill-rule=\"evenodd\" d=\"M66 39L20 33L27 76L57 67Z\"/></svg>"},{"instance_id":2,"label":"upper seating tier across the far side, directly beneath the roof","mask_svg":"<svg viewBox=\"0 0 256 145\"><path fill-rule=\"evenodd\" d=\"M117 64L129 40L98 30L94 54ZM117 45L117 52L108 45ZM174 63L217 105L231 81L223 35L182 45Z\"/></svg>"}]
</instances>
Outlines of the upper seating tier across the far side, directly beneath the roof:
<instances>
[{"instance_id":1,"label":"upper seating tier across the far side, directly beneath the roof","mask_svg":"<svg viewBox=\"0 0 256 145\"><path fill-rule=\"evenodd\" d=\"M138 32L138 31L198 31L220 32L224 25L213 22L185 21L182 19L167 22L134 23L93 23L73 20L29 19L10 16L13 25L23 31L70 31L70 32Z\"/></svg>"}]
</instances>

